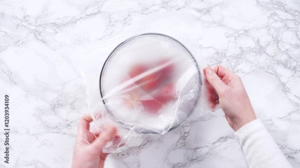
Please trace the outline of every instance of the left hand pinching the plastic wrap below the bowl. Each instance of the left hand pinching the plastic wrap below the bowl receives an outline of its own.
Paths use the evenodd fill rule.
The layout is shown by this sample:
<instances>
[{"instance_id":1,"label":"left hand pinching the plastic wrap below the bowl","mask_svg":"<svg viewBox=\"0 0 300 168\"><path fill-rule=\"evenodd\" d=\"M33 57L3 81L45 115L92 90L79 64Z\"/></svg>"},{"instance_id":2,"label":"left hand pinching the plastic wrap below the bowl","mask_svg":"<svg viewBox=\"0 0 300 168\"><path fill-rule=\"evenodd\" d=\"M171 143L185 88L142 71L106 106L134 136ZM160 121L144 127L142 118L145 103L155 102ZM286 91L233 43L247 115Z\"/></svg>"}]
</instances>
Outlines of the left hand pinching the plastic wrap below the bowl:
<instances>
[{"instance_id":1,"label":"left hand pinching the plastic wrap below the bowl","mask_svg":"<svg viewBox=\"0 0 300 168\"><path fill-rule=\"evenodd\" d=\"M107 153L102 149L105 144L116 137L116 129L107 127L99 135L97 131L90 132L91 115L83 116L78 125L76 143L73 152L72 168L103 168Z\"/></svg>"}]
</instances>

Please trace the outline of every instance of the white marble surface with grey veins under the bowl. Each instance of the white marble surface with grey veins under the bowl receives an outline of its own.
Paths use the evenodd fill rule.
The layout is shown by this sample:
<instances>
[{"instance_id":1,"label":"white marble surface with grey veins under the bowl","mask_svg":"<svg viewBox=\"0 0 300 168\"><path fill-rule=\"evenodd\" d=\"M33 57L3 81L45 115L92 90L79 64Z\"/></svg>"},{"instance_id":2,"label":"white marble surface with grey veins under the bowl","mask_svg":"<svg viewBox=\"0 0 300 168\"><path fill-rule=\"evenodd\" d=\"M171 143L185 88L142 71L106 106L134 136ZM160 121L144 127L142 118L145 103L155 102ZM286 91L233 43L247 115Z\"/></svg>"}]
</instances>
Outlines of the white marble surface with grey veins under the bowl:
<instances>
[{"instance_id":1,"label":"white marble surface with grey veins under the bowl","mask_svg":"<svg viewBox=\"0 0 300 168\"><path fill-rule=\"evenodd\" d=\"M86 87L119 42L145 32L173 36L201 65L239 74L256 115L300 167L300 1L3 0L0 9L0 96L16 106L10 164L1 155L0 167L70 167ZM234 141L218 110L133 142L105 167L244 168Z\"/></svg>"}]
</instances>

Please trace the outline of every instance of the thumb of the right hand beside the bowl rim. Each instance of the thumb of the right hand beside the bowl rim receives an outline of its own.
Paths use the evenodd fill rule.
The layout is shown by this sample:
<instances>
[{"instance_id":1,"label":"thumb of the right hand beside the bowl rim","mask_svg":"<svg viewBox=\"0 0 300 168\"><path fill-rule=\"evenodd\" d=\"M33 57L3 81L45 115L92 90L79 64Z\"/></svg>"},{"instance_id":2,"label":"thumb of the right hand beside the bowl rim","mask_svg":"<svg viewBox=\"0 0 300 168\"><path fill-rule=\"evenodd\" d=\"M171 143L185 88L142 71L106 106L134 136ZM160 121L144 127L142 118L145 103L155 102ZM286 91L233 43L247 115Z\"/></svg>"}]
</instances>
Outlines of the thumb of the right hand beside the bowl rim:
<instances>
[{"instance_id":1,"label":"thumb of the right hand beside the bowl rim","mask_svg":"<svg viewBox=\"0 0 300 168\"><path fill-rule=\"evenodd\" d=\"M208 83L212 85L217 94L220 95L223 92L224 88L226 88L225 83L223 83L223 81L210 67L204 68L203 72Z\"/></svg>"}]
</instances>

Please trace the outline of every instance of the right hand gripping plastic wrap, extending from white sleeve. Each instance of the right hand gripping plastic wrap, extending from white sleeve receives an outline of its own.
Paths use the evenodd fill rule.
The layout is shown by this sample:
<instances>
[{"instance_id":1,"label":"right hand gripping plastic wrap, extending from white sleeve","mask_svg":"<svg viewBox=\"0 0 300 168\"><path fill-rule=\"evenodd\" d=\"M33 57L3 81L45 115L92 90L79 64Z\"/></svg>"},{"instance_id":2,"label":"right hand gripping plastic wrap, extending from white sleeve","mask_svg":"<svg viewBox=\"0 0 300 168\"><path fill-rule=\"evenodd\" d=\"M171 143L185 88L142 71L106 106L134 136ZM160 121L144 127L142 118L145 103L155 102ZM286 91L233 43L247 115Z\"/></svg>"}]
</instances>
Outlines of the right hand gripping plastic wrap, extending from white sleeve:
<instances>
[{"instance_id":1,"label":"right hand gripping plastic wrap, extending from white sleeve","mask_svg":"<svg viewBox=\"0 0 300 168\"><path fill-rule=\"evenodd\" d=\"M219 103L232 129L237 131L245 124L256 119L248 94L241 78L229 69L217 65L203 70L208 85L208 91L217 97L210 97L211 107ZM218 102L214 99L218 99Z\"/></svg>"}]
</instances>

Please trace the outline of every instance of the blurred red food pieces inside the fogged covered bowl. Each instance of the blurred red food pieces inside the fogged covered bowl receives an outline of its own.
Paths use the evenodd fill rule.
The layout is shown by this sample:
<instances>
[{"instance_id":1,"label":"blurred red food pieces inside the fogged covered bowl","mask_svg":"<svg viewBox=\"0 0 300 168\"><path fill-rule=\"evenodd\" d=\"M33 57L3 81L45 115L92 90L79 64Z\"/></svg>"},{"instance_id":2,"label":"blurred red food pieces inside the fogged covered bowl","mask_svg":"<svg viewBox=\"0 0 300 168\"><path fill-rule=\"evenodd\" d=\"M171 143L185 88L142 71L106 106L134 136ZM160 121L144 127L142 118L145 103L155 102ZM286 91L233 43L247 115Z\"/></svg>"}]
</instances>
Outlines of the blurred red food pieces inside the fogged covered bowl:
<instances>
[{"instance_id":1,"label":"blurred red food pieces inside the fogged covered bowl","mask_svg":"<svg viewBox=\"0 0 300 168\"><path fill-rule=\"evenodd\" d=\"M129 79L132 85L131 95L125 101L129 108L140 102L144 112L149 116L155 116L168 102L176 99L174 83L170 81L174 73L174 65L170 60L160 62L153 68L151 65L137 64L129 70ZM137 86L137 87L135 87ZM141 100L141 94L149 97Z\"/></svg>"}]
</instances>

